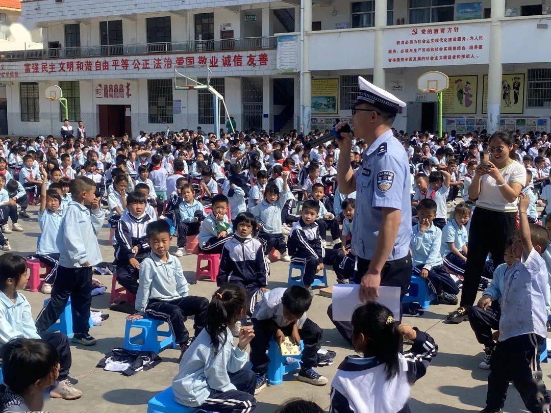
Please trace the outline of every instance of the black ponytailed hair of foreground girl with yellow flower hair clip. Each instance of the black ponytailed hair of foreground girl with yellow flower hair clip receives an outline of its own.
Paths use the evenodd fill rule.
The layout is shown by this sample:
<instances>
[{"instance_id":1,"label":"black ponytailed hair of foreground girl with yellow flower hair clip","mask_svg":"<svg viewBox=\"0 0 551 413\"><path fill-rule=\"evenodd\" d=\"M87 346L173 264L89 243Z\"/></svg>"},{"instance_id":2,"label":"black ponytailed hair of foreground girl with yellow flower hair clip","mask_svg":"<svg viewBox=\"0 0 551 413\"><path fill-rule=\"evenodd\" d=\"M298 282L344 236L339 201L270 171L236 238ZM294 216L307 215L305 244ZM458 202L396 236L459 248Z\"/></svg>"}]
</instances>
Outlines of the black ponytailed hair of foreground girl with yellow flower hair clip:
<instances>
[{"instance_id":1,"label":"black ponytailed hair of foreground girl with yellow flower hair clip","mask_svg":"<svg viewBox=\"0 0 551 413\"><path fill-rule=\"evenodd\" d=\"M390 309L368 302L352 314L353 337L363 334L366 340L364 357L375 356L386 364L387 380L399 371L398 352L402 336Z\"/></svg>"}]
</instances>

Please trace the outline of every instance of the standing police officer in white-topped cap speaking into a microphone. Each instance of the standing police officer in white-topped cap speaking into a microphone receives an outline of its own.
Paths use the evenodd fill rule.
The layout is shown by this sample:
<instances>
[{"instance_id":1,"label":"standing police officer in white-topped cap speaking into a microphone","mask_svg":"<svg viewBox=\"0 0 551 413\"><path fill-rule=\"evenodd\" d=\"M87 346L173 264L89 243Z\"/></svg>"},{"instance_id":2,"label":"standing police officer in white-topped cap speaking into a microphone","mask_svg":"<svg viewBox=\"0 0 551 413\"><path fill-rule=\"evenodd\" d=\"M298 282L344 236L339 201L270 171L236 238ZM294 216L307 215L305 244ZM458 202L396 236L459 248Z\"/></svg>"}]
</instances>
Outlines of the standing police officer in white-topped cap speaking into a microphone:
<instances>
[{"instance_id":1,"label":"standing police officer in white-topped cap speaking into a microphone","mask_svg":"<svg viewBox=\"0 0 551 413\"><path fill-rule=\"evenodd\" d=\"M360 284L361 301L375 301L380 285L400 287L401 296L406 294L412 274L409 162L391 130L398 108L406 104L362 77L358 77L358 83L360 93L352 108L354 133L369 146L361 166L353 171L352 134L341 133L337 179L341 193L356 191L354 282ZM338 123L337 131L344 124ZM329 308L329 317L331 311ZM349 323L334 324L350 340Z\"/></svg>"}]
</instances>

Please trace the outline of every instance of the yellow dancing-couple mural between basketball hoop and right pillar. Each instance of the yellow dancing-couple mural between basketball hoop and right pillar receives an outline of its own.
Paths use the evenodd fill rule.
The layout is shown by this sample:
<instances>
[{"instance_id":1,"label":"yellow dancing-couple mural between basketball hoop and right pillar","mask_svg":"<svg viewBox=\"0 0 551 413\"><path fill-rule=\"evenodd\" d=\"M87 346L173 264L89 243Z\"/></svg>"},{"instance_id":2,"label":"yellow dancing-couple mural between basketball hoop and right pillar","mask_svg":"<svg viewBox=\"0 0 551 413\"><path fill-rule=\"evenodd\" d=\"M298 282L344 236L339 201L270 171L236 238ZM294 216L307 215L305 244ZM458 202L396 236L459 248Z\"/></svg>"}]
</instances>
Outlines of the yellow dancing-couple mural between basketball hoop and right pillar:
<instances>
[{"instance_id":1,"label":"yellow dancing-couple mural between basketball hoop and right pillar","mask_svg":"<svg viewBox=\"0 0 551 413\"><path fill-rule=\"evenodd\" d=\"M478 76L450 76L449 79L449 88L442 92L442 113L476 114Z\"/></svg>"}]
</instances>

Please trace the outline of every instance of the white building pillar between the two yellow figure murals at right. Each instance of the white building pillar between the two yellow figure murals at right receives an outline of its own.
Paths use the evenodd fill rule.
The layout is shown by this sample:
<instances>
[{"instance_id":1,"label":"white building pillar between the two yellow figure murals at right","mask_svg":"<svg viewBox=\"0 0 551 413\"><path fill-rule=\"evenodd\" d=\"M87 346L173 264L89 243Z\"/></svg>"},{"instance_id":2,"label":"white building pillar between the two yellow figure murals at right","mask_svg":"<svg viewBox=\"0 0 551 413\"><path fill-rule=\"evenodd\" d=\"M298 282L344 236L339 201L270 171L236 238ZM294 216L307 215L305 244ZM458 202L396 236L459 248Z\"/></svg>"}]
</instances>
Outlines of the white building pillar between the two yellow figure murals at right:
<instances>
[{"instance_id":1,"label":"white building pillar between the two yellow figure murals at right","mask_svg":"<svg viewBox=\"0 0 551 413\"><path fill-rule=\"evenodd\" d=\"M499 130L501 112L501 20L505 16L505 0L491 0L490 57L488 61L488 133Z\"/></svg>"}]
</instances>

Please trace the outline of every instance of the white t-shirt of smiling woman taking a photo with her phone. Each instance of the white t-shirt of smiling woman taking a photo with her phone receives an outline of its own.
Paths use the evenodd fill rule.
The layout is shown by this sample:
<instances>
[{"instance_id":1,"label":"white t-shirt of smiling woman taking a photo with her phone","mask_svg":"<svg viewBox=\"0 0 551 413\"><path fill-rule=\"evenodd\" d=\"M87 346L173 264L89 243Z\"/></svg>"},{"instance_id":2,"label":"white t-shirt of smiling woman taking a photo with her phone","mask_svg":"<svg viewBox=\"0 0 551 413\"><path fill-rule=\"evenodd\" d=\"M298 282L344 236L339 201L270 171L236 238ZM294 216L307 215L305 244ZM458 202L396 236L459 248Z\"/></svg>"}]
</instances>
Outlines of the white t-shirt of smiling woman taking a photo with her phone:
<instances>
[{"instance_id":1,"label":"white t-shirt of smiling woman taking a photo with her phone","mask_svg":"<svg viewBox=\"0 0 551 413\"><path fill-rule=\"evenodd\" d=\"M509 165L500 169L499 172L509 185L516 182L524 187L526 184L526 169L517 161L511 161ZM517 202L518 199L515 199L513 202L507 202L503 195L501 195L494 178L488 174L480 178L480 194L476 203L477 207L500 212L515 212Z\"/></svg>"}]
</instances>

